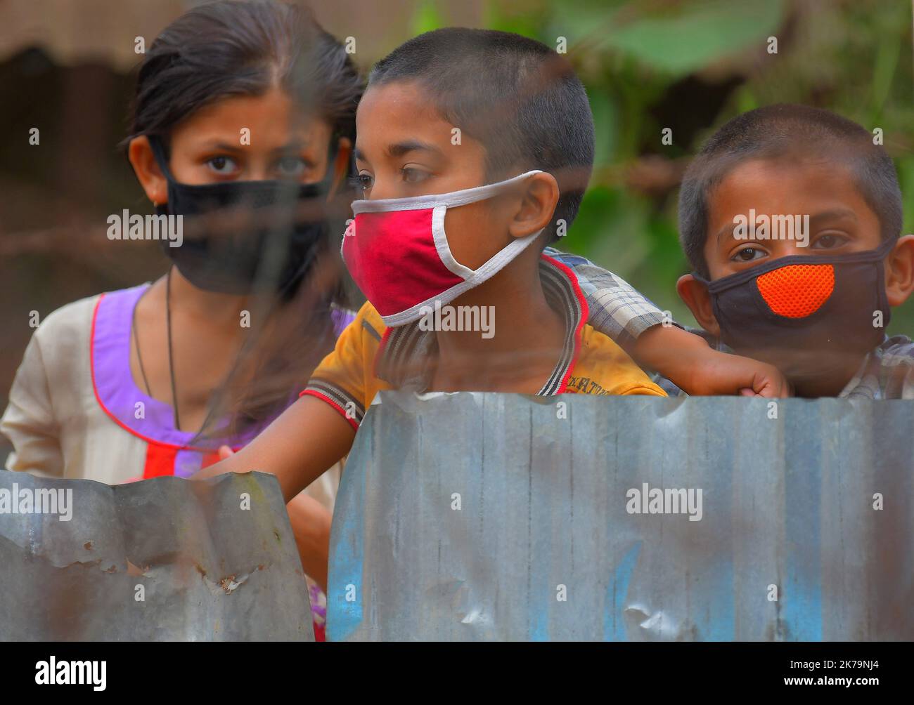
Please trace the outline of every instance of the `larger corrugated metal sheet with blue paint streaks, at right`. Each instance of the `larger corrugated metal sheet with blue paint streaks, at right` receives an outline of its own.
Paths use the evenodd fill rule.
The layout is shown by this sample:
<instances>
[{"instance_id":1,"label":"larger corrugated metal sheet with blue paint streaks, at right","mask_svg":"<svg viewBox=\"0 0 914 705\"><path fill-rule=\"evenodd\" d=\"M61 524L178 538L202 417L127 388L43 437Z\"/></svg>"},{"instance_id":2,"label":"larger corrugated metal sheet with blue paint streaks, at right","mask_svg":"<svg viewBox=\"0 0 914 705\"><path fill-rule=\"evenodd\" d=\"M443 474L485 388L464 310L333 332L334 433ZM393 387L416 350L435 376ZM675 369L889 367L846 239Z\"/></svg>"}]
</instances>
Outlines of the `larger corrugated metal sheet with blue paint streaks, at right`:
<instances>
[{"instance_id":1,"label":"larger corrugated metal sheet with blue paint streaks, at right","mask_svg":"<svg viewBox=\"0 0 914 705\"><path fill-rule=\"evenodd\" d=\"M336 500L328 639L914 638L910 402L381 400ZM629 513L644 483L701 489L701 520Z\"/></svg>"}]
</instances>

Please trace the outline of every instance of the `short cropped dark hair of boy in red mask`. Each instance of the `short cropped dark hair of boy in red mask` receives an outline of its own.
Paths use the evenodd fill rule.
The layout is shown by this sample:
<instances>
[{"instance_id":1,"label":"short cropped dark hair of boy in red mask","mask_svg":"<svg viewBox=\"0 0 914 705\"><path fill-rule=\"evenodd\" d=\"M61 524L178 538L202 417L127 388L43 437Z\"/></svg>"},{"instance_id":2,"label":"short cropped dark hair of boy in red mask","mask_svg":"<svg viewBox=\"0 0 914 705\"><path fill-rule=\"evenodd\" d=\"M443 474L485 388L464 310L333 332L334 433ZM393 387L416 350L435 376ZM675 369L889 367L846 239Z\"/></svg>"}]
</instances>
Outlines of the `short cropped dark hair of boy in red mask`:
<instances>
[{"instance_id":1,"label":"short cropped dark hair of boy in red mask","mask_svg":"<svg viewBox=\"0 0 914 705\"><path fill-rule=\"evenodd\" d=\"M489 181L540 169L558 181L555 224L571 224L593 168L584 86L568 61L535 39L492 29L426 32L381 59L368 86L415 80L441 116L481 142ZM519 172L518 172L519 173Z\"/></svg>"}]
</instances>

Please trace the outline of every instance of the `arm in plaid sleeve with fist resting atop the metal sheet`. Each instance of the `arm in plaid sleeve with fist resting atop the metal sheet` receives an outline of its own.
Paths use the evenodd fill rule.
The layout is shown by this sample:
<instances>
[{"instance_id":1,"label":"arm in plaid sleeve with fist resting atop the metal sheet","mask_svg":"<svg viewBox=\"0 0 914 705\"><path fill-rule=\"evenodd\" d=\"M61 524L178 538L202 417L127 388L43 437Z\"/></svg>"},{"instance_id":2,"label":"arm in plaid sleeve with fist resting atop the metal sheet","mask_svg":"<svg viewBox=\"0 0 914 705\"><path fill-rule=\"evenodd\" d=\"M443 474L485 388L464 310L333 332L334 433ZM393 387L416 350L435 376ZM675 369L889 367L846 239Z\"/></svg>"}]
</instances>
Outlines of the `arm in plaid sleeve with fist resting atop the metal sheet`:
<instances>
[{"instance_id":1,"label":"arm in plaid sleeve with fist resting atop the metal sheet","mask_svg":"<svg viewBox=\"0 0 914 705\"><path fill-rule=\"evenodd\" d=\"M574 269L590 308L590 325L619 343L636 363L663 374L688 394L790 394L776 367L712 350L701 337L671 325L663 311L624 279L578 255L551 247L547 255Z\"/></svg>"}]
</instances>

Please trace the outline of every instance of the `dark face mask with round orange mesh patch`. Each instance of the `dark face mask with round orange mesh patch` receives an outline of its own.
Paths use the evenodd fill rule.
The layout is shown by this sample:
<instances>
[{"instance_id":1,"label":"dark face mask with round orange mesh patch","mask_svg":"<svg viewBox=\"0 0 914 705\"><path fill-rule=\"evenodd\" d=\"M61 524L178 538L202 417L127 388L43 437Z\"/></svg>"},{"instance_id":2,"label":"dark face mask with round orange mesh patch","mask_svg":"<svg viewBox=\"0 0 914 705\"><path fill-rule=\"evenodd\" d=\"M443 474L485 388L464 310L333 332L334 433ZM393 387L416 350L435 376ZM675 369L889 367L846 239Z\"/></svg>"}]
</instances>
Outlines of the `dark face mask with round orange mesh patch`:
<instances>
[{"instance_id":1,"label":"dark face mask with round orange mesh patch","mask_svg":"<svg viewBox=\"0 0 914 705\"><path fill-rule=\"evenodd\" d=\"M792 255L714 281L693 276L707 285L721 341L737 353L867 353L886 334L882 262L894 246L892 239L849 255Z\"/></svg>"}]
</instances>

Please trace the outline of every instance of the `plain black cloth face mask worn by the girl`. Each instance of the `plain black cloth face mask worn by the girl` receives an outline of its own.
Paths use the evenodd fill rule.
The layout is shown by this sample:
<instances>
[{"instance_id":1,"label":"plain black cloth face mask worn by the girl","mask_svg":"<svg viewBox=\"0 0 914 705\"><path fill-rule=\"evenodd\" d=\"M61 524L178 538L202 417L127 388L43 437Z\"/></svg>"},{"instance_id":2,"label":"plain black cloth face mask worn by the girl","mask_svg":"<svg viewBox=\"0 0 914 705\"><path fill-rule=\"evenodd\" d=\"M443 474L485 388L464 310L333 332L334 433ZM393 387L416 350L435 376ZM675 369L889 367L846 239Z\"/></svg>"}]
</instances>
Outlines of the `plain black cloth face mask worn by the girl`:
<instances>
[{"instance_id":1,"label":"plain black cloth face mask worn by the girl","mask_svg":"<svg viewBox=\"0 0 914 705\"><path fill-rule=\"evenodd\" d=\"M155 161L168 182L168 203L157 205L158 215L185 216L191 234L180 247L162 240L165 254L178 271L198 289L243 295L252 291L292 297L324 243L332 226L324 217L301 221L295 211L303 204L323 213L332 183L335 149L327 160L327 174L318 184L292 181L236 181L217 184L182 184L175 181L162 142L149 137ZM229 226L215 233L199 227L197 216L224 213L251 226ZM197 226L199 222L197 221Z\"/></svg>"}]
</instances>

